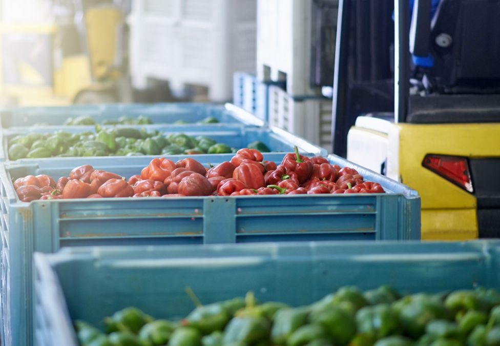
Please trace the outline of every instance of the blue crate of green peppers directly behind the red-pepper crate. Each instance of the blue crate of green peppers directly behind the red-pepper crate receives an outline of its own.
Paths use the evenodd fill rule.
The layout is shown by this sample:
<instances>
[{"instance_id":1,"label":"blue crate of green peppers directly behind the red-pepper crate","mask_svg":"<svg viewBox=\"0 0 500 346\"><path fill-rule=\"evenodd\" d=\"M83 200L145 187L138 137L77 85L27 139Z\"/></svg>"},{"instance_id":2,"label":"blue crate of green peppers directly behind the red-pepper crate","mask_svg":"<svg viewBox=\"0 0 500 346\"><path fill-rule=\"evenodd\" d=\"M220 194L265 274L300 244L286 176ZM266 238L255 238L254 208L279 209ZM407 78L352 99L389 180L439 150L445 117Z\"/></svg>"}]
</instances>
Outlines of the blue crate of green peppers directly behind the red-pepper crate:
<instances>
[{"instance_id":1,"label":"blue crate of green peppers directly behind the red-pepper crate","mask_svg":"<svg viewBox=\"0 0 500 346\"><path fill-rule=\"evenodd\" d=\"M262 141L272 152L275 153L288 153L294 151L294 146L299 148L299 151L304 154L313 154L326 156L327 151L321 147L309 143L303 138L293 135L289 132L279 128L267 127L241 127L234 125L205 125L205 126L169 126L169 125L148 125L148 126L127 126L127 128L145 129L148 132L161 131L165 134L169 133L185 133L189 136L208 136L217 141L217 143L227 144L232 148L245 148L248 144L259 140ZM12 129L3 130L0 134L0 143L2 143L2 150L0 150L0 161L9 160L8 155L8 141L10 138L22 134L29 133L53 133L56 131L66 131L70 133L94 132L94 126L78 126L78 127L31 127L25 129ZM209 157L208 162L214 160L213 155L205 155ZM114 156L116 157L116 156ZM196 156L193 156L196 158ZM33 158L33 159L19 159L16 162L34 162L38 160L46 160L47 158Z\"/></svg>"}]
</instances>

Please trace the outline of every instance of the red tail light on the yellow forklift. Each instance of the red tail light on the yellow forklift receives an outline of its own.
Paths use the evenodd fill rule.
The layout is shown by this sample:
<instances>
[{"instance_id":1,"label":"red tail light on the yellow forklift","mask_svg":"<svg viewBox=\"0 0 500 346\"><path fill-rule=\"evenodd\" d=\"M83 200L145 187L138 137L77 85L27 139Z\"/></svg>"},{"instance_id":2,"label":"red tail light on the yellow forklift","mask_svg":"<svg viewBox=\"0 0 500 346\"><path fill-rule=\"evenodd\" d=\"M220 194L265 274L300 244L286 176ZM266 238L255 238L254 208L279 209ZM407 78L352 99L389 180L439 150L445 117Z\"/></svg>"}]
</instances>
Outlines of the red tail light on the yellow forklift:
<instances>
[{"instance_id":1,"label":"red tail light on the yellow forklift","mask_svg":"<svg viewBox=\"0 0 500 346\"><path fill-rule=\"evenodd\" d=\"M467 158L448 155L426 155L422 166L458 185L464 190L473 192Z\"/></svg>"}]
</instances>

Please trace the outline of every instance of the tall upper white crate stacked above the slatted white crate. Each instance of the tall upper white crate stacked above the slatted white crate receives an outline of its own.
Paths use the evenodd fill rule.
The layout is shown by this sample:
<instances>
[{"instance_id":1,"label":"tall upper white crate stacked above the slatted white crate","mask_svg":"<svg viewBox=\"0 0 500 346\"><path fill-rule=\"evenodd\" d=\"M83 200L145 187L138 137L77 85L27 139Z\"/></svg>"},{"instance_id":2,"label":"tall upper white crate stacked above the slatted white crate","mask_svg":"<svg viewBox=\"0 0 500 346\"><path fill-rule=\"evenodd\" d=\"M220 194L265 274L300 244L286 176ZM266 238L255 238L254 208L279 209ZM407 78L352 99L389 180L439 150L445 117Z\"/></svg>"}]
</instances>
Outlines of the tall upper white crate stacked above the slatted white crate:
<instances>
[{"instance_id":1,"label":"tall upper white crate stacked above the slatted white crate","mask_svg":"<svg viewBox=\"0 0 500 346\"><path fill-rule=\"evenodd\" d=\"M286 91L294 96L321 95L321 88L310 86L314 1L320 0L257 3L257 78L286 80Z\"/></svg>"}]
</instances>

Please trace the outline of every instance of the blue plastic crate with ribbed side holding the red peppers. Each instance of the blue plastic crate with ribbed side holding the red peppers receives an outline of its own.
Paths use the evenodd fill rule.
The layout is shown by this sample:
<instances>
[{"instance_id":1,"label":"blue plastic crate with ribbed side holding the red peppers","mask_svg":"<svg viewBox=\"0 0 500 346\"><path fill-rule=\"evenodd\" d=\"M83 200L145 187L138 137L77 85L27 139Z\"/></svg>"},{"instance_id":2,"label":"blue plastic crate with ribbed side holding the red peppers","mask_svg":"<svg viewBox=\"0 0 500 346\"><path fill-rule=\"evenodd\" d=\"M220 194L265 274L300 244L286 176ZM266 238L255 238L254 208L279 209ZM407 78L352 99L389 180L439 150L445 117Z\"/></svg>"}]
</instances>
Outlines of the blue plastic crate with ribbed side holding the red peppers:
<instances>
[{"instance_id":1,"label":"blue plastic crate with ribbed side holding the red peppers","mask_svg":"<svg viewBox=\"0 0 500 346\"><path fill-rule=\"evenodd\" d=\"M232 155L217 156L213 165ZM185 156L184 156L185 157ZM182 156L176 159L183 158ZM283 154L264 159L280 162ZM130 177L151 157L60 158L0 165L3 345L32 340L33 252L100 245L179 245L302 240L420 239L420 197L408 187L338 156L386 194L74 199L20 202L12 179L67 176L82 164ZM204 155L197 157L209 162Z\"/></svg>"}]
</instances>

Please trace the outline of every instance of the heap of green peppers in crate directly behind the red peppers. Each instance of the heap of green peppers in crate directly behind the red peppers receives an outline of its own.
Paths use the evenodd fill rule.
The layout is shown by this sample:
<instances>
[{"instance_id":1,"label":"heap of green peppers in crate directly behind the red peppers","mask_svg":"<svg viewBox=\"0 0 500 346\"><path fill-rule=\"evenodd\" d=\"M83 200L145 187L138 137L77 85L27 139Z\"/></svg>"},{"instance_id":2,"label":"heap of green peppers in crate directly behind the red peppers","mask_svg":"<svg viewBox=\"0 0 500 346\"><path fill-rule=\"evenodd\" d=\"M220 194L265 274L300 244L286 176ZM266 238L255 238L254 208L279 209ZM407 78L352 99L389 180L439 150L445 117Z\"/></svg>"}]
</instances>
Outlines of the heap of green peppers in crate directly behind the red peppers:
<instances>
[{"instance_id":1,"label":"heap of green peppers in crate directly behind the red peppers","mask_svg":"<svg viewBox=\"0 0 500 346\"><path fill-rule=\"evenodd\" d=\"M248 148L269 152L261 142ZM239 149L239 148L238 148ZM74 157L74 156L133 156L226 154L237 148L217 143L207 136L191 137L183 133L165 135L135 128L98 129L97 133L72 134L59 131L50 134L19 135L9 141L11 160L21 158Z\"/></svg>"}]
</instances>

